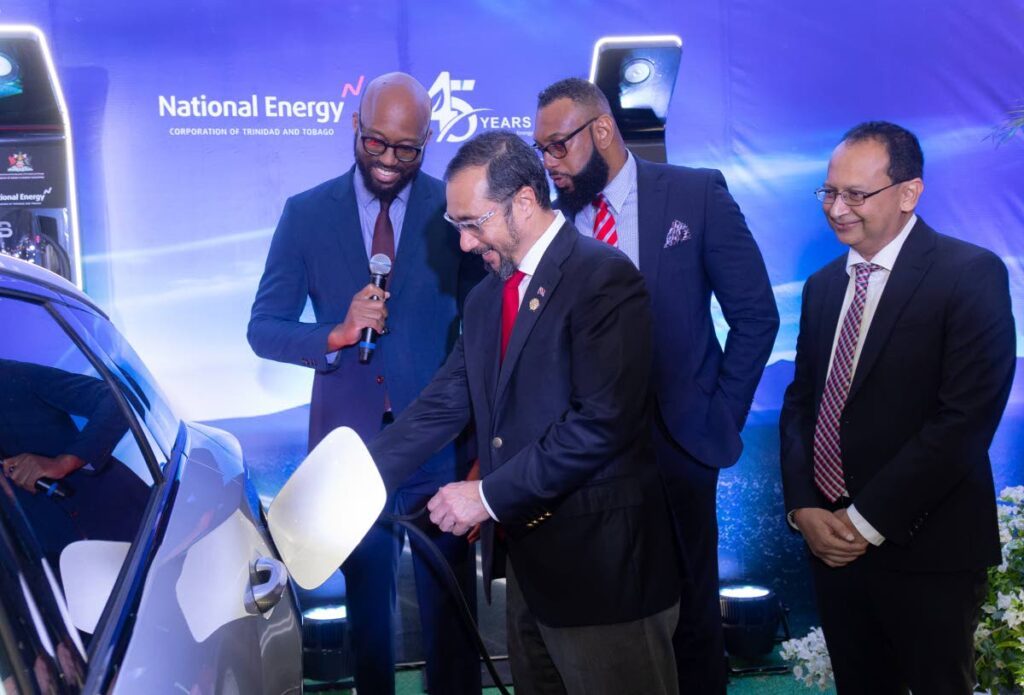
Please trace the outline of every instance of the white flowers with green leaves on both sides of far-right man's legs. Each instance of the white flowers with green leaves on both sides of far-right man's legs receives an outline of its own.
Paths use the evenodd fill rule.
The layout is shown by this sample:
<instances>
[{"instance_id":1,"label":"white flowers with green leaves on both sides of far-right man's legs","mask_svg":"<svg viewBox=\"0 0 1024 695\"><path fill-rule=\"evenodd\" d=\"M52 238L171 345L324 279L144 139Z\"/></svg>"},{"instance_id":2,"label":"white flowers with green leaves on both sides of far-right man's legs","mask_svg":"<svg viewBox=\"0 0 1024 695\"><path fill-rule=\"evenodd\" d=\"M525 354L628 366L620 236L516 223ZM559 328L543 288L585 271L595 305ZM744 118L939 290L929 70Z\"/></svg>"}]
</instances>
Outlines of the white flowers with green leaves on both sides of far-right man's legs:
<instances>
[{"instance_id":1,"label":"white flowers with green leaves on both sides of far-right man's legs","mask_svg":"<svg viewBox=\"0 0 1024 695\"><path fill-rule=\"evenodd\" d=\"M1024 485L999 493L1002 562L988 570L988 596L974 634L978 686L990 693L1024 687ZM831 660L820 627L782 643L781 656L804 685L833 685Z\"/></svg>"}]
</instances>

